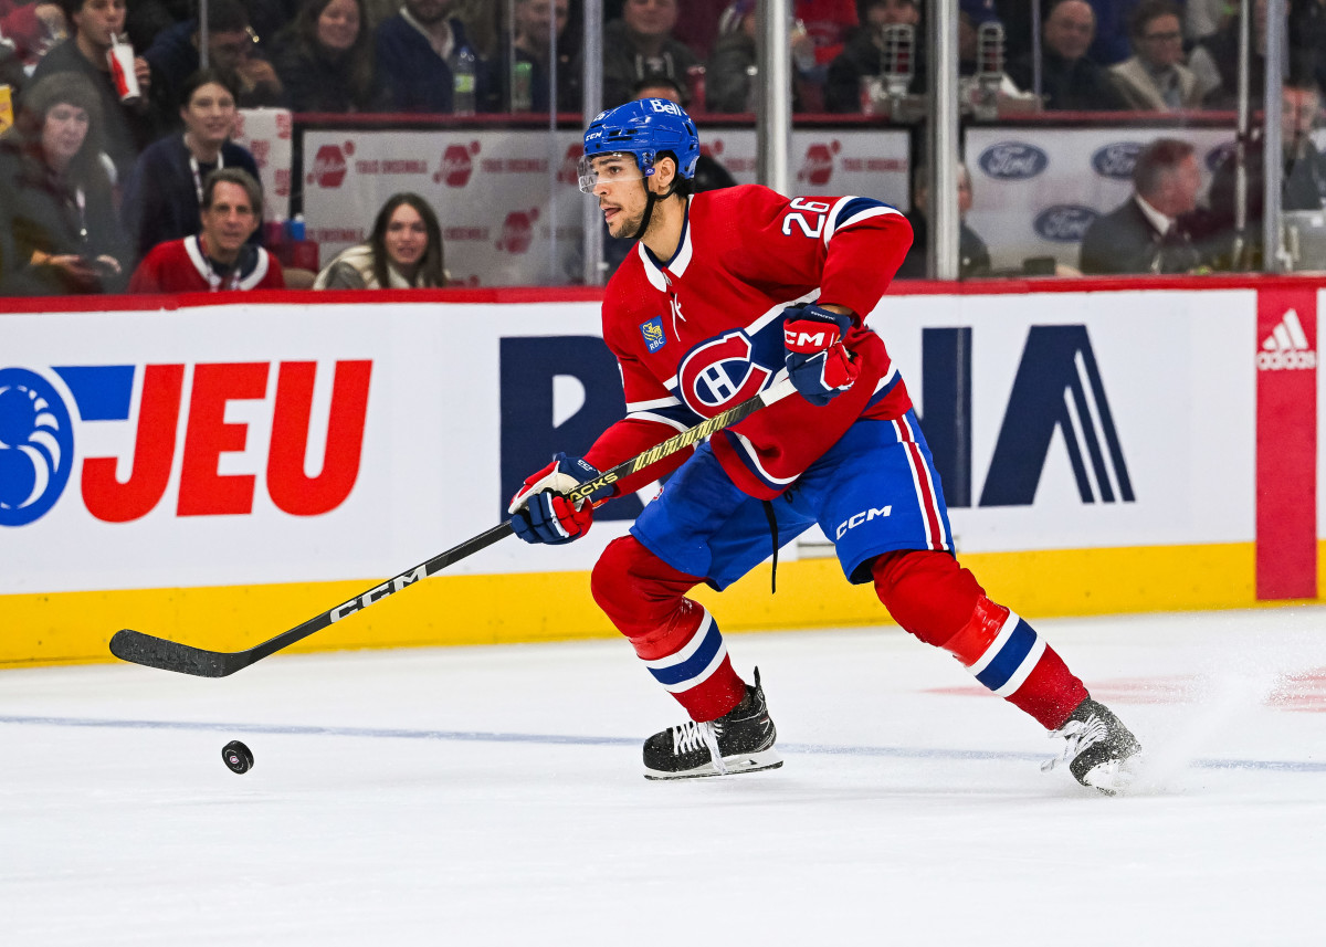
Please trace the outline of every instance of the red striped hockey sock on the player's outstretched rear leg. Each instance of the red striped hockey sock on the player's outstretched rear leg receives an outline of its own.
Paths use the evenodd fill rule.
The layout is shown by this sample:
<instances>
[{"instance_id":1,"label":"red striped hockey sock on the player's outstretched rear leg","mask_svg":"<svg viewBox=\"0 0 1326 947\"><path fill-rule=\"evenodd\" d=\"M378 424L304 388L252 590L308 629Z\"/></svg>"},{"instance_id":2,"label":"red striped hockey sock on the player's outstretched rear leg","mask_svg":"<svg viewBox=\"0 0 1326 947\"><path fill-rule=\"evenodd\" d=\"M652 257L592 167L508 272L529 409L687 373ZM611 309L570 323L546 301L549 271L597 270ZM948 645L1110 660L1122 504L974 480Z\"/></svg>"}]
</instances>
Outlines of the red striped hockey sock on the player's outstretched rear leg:
<instances>
[{"instance_id":1,"label":"red striped hockey sock on the player's outstretched rear leg","mask_svg":"<svg viewBox=\"0 0 1326 947\"><path fill-rule=\"evenodd\" d=\"M903 629L949 651L1046 729L1059 727L1086 699L1086 687L1036 629L987 598L976 577L951 556L886 553L871 572L875 593Z\"/></svg>"}]
</instances>

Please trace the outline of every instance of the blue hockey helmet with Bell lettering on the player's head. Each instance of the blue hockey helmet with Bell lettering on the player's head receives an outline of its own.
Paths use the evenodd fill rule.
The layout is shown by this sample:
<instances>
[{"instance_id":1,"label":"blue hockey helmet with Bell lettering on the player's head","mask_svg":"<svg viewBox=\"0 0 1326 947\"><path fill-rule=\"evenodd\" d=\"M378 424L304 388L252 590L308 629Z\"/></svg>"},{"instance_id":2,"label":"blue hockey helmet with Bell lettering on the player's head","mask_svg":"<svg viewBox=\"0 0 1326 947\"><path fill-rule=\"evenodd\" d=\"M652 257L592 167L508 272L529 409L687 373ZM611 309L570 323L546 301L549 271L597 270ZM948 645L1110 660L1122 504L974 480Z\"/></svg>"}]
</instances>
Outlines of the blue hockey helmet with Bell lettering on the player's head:
<instances>
[{"instance_id":1,"label":"blue hockey helmet with Bell lettering on the player's head","mask_svg":"<svg viewBox=\"0 0 1326 947\"><path fill-rule=\"evenodd\" d=\"M610 154L635 155L646 178L654 174L658 157L676 155L678 175L690 180L700 159L700 135L680 105L666 98L642 98L601 111L585 130L585 158L581 159L581 190L594 190L594 158ZM586 180L587 178L587 180Z\"/></svg>"}]
</instances>

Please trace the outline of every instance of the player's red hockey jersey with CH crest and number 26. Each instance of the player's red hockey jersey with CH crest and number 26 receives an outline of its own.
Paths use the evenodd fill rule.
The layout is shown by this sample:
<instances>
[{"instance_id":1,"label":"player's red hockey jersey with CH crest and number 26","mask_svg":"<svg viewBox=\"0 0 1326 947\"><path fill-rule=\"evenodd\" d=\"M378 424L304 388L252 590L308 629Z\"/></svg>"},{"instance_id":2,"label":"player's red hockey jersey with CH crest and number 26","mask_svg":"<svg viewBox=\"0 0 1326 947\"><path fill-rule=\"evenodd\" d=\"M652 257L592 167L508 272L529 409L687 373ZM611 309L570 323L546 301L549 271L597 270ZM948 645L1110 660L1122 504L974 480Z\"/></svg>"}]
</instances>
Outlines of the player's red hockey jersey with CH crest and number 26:
<instances>
[{"instance_id":1,"label":"player's red hockey jersey with CH crest and number 26","mask_svg":"<svg viewBox=\"0 0 1326 947\"><path fill-rule=\"evenodd\" d=\"M785 398L713 435L723 468L744 492L772 499L862 416L899 418L911 399L883 341L859 325L907 249L911 225L870 198L785 198L758 186L690 199L682 241L666 263L636 244L607 284L603 340L617 355L627 416L586 460L607 470L786 374L782 310L849 306L857 383L825 407ZM630 491L675 468L663 462L619 484Z\"/></svg>"}]
</instances>

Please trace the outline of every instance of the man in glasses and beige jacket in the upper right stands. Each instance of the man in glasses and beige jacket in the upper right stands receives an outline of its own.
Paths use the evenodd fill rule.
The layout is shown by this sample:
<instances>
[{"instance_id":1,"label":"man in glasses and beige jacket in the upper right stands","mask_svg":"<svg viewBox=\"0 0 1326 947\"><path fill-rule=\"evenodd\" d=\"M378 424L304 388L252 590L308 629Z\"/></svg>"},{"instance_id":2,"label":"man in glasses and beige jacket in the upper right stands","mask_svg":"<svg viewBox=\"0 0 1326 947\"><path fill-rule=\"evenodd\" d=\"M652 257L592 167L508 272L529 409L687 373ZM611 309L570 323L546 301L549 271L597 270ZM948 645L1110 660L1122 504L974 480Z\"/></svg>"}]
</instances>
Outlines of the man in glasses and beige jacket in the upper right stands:
<instances>
[{"instance_id":1,"label":"man in glasses and beige jacket in the upper right stands","mask_svg":"<svg viewBox=\"0 0 1326 947\"><path fill-rule=\"evenodd\" d=\"M1183 64L1180 11L1170 0L1143 0L1132 15L1128 60L1110 66L1119 92L1136 111L1177 111L1201 105L1197 77Z\"/></svg>"}]
</instances>

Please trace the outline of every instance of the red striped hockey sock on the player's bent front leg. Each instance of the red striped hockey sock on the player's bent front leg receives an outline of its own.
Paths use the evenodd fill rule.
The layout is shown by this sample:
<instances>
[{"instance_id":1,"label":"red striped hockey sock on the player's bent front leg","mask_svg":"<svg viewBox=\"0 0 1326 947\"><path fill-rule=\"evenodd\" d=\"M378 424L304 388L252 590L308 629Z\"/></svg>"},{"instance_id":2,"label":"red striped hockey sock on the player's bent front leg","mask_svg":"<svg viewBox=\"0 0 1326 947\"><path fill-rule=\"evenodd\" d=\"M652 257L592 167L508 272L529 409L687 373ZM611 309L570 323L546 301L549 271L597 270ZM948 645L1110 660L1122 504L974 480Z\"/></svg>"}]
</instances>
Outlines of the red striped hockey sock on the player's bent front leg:
<instances>
[{"instance_id":1,"label":"red striped hockey sock on the player's bent front leg","mask_svg":"<svg viewBox=\"0 0 1326 947\"><path fill-rule=\"evenodd\" d=\"M609 544L590 589L650 674L692 720L716 720L745 696L723 633L684 593L701 580L678 572L634 536Z\"/></svg>"}]
</instances>

